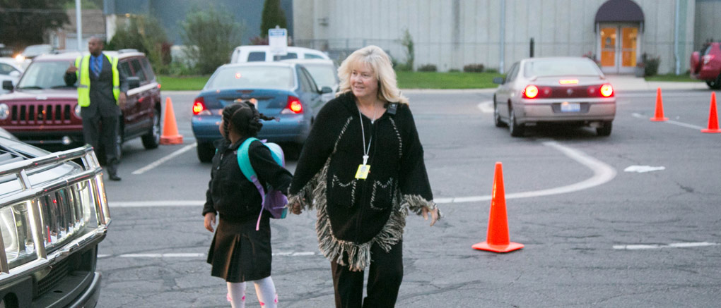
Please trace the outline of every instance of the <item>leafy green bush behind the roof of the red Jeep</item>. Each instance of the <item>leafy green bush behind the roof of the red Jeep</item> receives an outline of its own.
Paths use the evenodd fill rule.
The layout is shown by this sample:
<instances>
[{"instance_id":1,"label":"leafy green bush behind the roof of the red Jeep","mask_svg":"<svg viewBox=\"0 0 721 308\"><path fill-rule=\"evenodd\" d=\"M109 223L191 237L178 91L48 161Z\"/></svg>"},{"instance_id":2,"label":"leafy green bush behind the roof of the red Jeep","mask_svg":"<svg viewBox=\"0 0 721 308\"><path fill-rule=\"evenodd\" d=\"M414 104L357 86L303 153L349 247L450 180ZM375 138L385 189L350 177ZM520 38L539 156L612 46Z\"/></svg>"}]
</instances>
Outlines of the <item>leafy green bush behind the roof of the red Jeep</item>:
<instances>
[{"instance_id":1,"label":"leafy green bush behind the roof of the red Jeep","mask_svg":"<svg viewBox=\"0 0 721 308\"><path fill-rule=\"evenodd\" d=\"M165 29L151 16L131 15L126 21L118 21L115 35L107 43L108 50L124 48L137 49L148 55L153 67L164 73L166 65L170 63L170 50Z\"/></svg>"}]
</instances>

